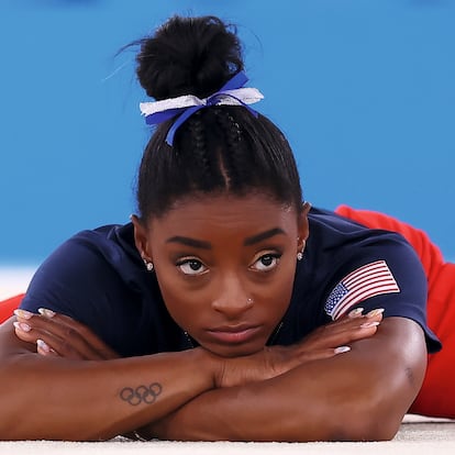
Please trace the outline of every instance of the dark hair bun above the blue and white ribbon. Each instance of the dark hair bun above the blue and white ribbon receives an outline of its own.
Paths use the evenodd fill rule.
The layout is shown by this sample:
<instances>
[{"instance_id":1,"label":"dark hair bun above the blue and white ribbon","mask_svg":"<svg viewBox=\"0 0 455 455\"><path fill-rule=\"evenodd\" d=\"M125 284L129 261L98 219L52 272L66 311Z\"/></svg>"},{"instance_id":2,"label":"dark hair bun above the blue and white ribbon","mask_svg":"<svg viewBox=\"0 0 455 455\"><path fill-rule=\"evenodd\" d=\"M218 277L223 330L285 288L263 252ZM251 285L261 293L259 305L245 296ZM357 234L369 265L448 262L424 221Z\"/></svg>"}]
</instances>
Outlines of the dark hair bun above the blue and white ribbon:
<instances>
[{"instance_id":1,"label":"dark hair bun above the blue and white ribbon","mask_svg":"<svg viewBox=\"0 0 455 455\"><path fill-rule=\"evenodd\" d=\"M137 78L156 100L206 98L243 69L235 27L215 16L173 16L138 44Z\"/></svg>"}]
</instances>

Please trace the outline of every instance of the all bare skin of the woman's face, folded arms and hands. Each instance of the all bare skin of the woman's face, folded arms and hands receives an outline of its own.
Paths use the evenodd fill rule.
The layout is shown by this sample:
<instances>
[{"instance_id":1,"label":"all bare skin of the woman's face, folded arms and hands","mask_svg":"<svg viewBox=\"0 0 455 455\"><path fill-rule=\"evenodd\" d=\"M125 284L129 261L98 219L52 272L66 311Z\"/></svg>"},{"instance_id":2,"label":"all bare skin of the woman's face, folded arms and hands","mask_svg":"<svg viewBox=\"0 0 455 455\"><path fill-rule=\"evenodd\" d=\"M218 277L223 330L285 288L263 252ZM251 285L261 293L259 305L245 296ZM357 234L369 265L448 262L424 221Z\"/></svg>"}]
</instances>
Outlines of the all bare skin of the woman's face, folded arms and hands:
<instances>
[{"instance_id":1,"label":"all bare skin of the woman's face, folded arms and hands","mask_svg":"<svg viewBox=\"0 0 455 455\"><path fill-rule=\"evenodd\" d=\"M226 196L134 219L170 314L201 347L118 358L77 321L18 312L0 326L0 439L392 437L423 380L418 324L355 312L293 346L264 346L289 303L308 209ZM274 235L258 241L264 232Z\"/></svg>"}]
</instances>

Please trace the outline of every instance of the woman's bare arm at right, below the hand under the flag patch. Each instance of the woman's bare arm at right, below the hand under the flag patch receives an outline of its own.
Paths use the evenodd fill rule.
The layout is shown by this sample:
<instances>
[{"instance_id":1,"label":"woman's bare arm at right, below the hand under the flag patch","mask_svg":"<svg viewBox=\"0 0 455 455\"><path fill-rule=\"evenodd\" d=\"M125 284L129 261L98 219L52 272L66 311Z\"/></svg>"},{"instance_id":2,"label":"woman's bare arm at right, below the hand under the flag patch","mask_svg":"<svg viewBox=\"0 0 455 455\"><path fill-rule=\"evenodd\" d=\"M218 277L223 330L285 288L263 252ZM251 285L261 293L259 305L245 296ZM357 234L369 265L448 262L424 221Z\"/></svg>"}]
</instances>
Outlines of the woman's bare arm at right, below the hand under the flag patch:
<instances>
[{"instance_id":1,"label":"woman's bare arm at right, below the hand under the flag patch","mask_svg":"<svg viewBox=\"0 0 455 455\"><path fill-rule=\"evenodd\" d=\"M379 346L388 351L385 331L354 343L343 356L262 382L208 391L151 430L170 440L391 439L423 379L422 336L409 335L402 355L380 358Z\"/></svg>"}]
</instances>

